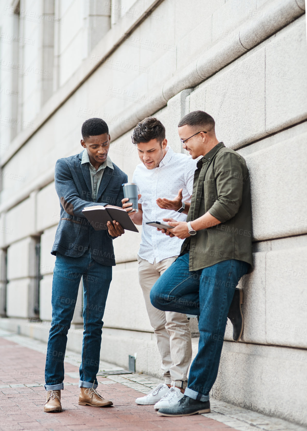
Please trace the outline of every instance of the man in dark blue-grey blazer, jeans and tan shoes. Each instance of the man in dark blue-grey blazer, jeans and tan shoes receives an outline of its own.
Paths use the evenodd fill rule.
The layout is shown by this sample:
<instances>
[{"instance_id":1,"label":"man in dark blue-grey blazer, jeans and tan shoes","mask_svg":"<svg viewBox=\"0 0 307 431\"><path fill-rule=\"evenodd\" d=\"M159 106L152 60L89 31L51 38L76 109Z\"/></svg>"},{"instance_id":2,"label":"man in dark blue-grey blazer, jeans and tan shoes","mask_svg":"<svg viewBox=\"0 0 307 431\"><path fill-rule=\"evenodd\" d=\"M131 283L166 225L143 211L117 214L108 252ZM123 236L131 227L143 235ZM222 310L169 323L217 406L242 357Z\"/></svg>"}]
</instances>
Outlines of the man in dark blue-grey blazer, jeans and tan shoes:
<instances>
[{"instance_id":1,"label":"man in dark blue-grey blazer, jeans and tan shoes","mask_svg":"<svg viewBox=\"0 0 307 431\"><path fill-rule=\"evenodd\" d=\"M93 205L121 206L121 184L127 175L108 156L110 135L99 118L85 121L81 128L80 154L59 159L55 187L61 217L51 253L56 256L52 286L52 322L45 368L45 412L61 412L64 389L64 357L67 333L74 314L78 287L83 277L84 336L80 365L79 404L111 406L96 391L99 369L102 317L105 310L112 266L115 265L112 239L124 230L115 220L108 230L95 231L82 210Z\"/></svg>"}]
</instances>

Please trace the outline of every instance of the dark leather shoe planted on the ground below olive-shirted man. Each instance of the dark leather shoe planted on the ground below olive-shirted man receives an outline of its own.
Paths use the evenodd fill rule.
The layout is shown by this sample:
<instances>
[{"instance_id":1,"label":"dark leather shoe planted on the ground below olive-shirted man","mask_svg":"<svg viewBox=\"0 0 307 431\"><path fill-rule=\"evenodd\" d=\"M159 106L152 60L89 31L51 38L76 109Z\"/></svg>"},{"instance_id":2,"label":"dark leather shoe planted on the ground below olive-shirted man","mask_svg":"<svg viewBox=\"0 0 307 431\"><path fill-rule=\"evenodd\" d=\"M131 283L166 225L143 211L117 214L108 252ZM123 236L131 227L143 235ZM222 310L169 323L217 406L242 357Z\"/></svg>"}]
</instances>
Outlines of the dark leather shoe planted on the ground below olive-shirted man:
<instances>
[{"instance_id":1,"label":"dark leather shoe planted on the ground below olive-shirted man","mask_svg":"<svg viewBox=\"0 0 307 431\"><path fill-rule=\"evenodd\" d=\"M185 395L174 407L158 410L159 416L190 416L197 413L210 413L210 401L197 401Z\"/></svg>"}]
</instances>

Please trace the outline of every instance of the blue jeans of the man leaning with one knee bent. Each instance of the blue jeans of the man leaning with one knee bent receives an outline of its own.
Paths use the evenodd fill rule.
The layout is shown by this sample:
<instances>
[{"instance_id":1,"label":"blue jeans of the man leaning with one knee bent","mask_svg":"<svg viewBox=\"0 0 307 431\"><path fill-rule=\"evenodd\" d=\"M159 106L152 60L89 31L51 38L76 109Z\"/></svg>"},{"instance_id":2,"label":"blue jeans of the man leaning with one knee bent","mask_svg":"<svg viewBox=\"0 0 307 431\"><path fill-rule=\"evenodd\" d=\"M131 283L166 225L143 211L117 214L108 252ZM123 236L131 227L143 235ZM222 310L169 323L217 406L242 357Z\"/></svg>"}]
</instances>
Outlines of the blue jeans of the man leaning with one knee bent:
<instances>
[{"instance_id":1,"label":"blue jeans of the man leaning with one knee bent","mask_svg":"<svg viewBox=\"0 0 307 431\"><path fill-rule=\"evenodd\" d=\"M185 390L185 395L193 400L209 400L217 378L229 307L248 268L248 263L230 259L189 271L186 253L172 263L150 291L151 303L159 310L199 315L198 353Z\"/></svg>"}]
</instances>

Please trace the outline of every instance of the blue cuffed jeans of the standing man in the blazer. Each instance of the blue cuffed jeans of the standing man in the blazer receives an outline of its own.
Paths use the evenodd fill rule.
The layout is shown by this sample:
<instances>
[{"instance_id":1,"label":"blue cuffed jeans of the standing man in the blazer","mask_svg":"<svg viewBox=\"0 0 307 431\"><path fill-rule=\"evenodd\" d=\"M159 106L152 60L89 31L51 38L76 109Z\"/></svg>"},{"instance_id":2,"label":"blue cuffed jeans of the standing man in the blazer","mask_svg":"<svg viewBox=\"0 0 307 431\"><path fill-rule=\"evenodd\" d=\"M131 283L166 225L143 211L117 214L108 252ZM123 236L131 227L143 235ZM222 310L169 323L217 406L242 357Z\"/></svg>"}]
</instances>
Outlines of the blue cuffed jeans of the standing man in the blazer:
<instances>
[{"instance_id":1,"label":"blue cuffed jeans of the standing man in the blazer","mask_svg":"<svg viewBox=\"0 0 307 431\"><path fill-rule=\"evenodd\" d=\"M46 390L64 388L64 356L67 333L77 301L78 287L83 278L83 344L79 387L97 387L102 317L105 311L112 266L93 260L90 250L80 257L56 253L52 284L52 322L49 333L46 367Z\"/></svg>"}]
</instances>

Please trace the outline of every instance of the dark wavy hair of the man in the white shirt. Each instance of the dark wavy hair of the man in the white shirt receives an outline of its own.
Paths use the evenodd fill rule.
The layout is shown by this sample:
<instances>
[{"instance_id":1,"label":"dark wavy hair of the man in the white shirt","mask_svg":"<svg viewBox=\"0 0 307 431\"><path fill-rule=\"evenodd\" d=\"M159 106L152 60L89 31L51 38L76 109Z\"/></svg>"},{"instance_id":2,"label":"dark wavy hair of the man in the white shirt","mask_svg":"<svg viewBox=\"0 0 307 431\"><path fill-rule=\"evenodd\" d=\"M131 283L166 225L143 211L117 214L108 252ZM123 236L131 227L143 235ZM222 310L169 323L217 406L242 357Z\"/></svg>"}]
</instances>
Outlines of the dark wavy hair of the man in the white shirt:
<instances>
[{"instance_id":1,"label":"dark wavy hair of the man in the white shirt","mask_svg":"<svg viewBox=\"0 0 307 431\"><path fill-rule=\"evenodd\" d=\"M165 139L165 127L155 117L146 117L136 125L131 138L134 145L141 142L147 143L152 139L156 139L162 144Z\"/></svg>"}]
</instances>

